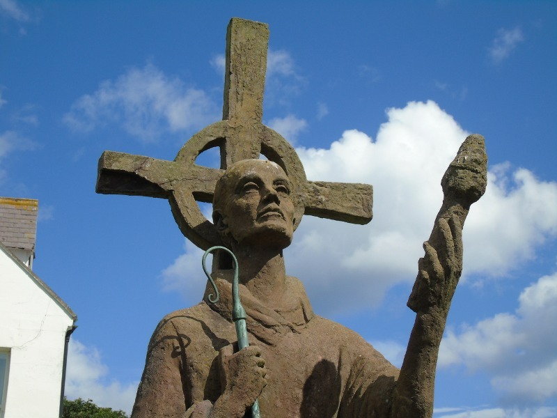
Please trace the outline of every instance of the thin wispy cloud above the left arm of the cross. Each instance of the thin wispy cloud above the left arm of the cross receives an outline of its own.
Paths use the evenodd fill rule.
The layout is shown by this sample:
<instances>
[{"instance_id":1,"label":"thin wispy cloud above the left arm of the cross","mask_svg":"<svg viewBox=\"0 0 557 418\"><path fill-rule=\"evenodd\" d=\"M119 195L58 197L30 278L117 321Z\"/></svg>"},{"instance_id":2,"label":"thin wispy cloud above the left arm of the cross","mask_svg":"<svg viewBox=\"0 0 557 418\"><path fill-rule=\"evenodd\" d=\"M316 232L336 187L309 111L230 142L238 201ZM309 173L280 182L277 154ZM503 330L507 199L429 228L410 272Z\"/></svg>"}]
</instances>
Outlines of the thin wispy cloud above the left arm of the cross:
<instances>
[{"instance_id":1,"label":"thin wispy cloud above the left arm of the cross","mask_svg":"<svg viewBox=\"0 0 557 418\"><path fill-rule=\"evenodd\" d=\"M218 120L217 105L204 91L188 88L152 64L102 82L97 91L77 99L63 117L73 130L91 132L114 123L146 142Z\"/></svg>"}]
</instances>

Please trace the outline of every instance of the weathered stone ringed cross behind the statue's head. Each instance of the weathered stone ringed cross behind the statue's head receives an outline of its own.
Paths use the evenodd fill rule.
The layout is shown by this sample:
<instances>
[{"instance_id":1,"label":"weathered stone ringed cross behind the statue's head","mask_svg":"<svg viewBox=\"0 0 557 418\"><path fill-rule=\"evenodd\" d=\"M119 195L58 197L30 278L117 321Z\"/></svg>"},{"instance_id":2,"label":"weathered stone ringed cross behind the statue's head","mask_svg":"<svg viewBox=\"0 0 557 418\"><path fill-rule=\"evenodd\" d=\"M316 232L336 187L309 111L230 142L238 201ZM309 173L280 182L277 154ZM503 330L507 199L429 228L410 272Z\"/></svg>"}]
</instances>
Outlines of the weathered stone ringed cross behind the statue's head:
<instances>
[{"instance_id":1,"label":"weathered stone ringed cross behind the statue's head","mask_svg":"<svg viewBox=\"0 0 557 418\"><path fill-rule=\"evenodd\" d=\"M197 201L210 203L217 179L234 162L264 155L280 165L292 182L295 228L302 215L353 224L372 217L372 187L306 179L299 157L280 134L262 124L267 69L267 24L233 18L226 34L223 120L194 134L174 161L104 151L97 193L168 199L180 231L201 249L221 245ZM203 151L219 147L221 169L196 164Z\"/></svg>"}]
</instances>

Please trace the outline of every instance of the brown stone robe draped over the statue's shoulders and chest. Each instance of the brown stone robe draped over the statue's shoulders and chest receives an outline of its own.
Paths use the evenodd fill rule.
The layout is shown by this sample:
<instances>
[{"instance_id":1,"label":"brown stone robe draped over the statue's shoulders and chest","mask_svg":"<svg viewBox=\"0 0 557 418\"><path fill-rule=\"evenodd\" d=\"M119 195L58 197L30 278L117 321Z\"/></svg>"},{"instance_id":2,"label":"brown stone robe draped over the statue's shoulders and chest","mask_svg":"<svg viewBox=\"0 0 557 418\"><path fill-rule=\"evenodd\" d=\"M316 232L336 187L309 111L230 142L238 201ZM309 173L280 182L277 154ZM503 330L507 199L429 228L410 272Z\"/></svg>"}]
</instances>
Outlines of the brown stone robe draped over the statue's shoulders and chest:
<instances>
[{"instance_id":1,"label":"brown stone robe draped over the statue's shoulders and chest","mask_svg":"<svg viewBox=\"0 0 557 418\"><path fill-rule=\"evenodd\" d=\"M207 416L221 395L219 350L237 338L230 283L222 276L216 283L217 304L207 301L207 288L203 302L157 326L132 418ZM314 315L298 279L287 278L281 309L263 306L242 285L240 297L249 341L267 367L263 418L389 415L398 369L355 332Z\"/></svg>"}]
</instances>

